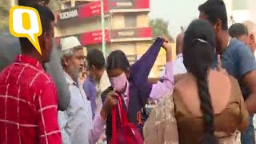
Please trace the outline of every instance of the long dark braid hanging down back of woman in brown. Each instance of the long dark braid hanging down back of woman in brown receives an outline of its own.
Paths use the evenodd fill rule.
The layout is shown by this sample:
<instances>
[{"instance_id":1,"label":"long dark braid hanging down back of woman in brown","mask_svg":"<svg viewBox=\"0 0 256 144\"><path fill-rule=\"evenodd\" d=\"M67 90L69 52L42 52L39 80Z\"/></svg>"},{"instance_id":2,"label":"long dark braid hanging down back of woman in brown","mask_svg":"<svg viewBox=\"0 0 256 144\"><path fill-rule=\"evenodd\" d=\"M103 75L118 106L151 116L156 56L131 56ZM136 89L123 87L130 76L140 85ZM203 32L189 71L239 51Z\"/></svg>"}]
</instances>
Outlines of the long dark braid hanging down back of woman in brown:
<instances>
[{"instance_id":1,"label":"long dark braid hanging down back of woman in brown","mask_svg":"<svg viewBox=\"0 0 256 144\"><path fill-rule=\"evenodd\" d=\"M194 50L204 51L202 54L210 54L210 45L202 40L196 39L192 46L195 47ZM194 52L190 51L190 53ZM211 104L210 92L208 87L208 72L210 69L210 57L202 58L200 53L194 55L193 61L190 60L189 71L197 80L198 85L198 95L200 99L200 109L202 110L202 118L204 121L204 135L202 137L202 144L216 144L218 139L214 136L214 110Z\"/></svg>"}]
</instances>

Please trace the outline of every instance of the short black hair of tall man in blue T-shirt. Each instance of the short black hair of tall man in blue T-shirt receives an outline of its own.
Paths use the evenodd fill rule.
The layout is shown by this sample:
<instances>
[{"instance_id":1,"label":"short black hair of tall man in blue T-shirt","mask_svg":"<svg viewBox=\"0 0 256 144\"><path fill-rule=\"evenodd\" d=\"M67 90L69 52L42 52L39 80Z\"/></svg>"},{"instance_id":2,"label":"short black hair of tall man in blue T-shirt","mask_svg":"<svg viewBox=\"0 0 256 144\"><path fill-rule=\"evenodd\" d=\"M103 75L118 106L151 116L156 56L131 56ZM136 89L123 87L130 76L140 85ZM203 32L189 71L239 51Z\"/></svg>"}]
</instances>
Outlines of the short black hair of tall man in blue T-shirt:
<instances>
[{"instance_id":1,"label":"short black hair of tall man in blue T-shirt","mask_svg":"<svg viewBox=\"0 0 256 144\"><path fill-rule=\"evenodd\" d=\"M210 23L215 24L220 19L222 21L222 29L228 29L226 6L223 0L208 0L198 6L198 10L206 14Z\"/></svg>"}]
</instances>

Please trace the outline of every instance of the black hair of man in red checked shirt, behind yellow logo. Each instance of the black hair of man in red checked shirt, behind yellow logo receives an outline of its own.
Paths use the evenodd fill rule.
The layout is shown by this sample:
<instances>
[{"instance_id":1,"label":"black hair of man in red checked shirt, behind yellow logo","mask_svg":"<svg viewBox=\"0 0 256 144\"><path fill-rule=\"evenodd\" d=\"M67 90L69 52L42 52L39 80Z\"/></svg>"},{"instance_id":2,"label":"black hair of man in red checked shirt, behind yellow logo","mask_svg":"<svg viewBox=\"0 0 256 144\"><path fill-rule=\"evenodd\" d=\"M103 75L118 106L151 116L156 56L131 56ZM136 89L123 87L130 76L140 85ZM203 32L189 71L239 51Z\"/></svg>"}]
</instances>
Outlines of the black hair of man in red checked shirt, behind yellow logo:
<instances>
[{"instance_id":1,"label":"black hair of man in red checked shirt, behind yellow logo","mask_svg":"<svg viewBox=\"0 0 256 144\"><path fill-rule=\"evenodd\" d=\"M29 5L27 3L24 3L23 6L30 6L34 8L35 10L38 10L38 13L40 15L41 24L42 24L42 34L44 32L50 32L51 30L51 22L54 22L54 14L53 12L46 6L39 6L38 4ZM28 53L31 52L33 44L29 41L28 38L19 38L19 42L22 47L22 52Z\"/></svg>"}]
</instances>

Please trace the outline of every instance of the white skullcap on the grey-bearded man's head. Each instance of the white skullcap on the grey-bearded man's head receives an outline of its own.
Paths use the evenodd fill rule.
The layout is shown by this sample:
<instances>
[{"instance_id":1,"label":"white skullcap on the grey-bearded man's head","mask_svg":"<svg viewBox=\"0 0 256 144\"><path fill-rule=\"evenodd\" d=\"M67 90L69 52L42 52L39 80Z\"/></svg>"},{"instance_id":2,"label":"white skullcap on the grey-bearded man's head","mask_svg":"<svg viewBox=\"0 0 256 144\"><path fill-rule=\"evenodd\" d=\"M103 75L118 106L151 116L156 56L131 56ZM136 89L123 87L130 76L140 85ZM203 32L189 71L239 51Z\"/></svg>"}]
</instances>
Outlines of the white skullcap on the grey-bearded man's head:
<instances>
[{"instance_id":1,"label":"white skullcap on the grey-bearded man's head","mask_svg":"<svg viewBox=\"0 0 256 144\"><path fill-rule=\"evenodd\" d=\"M77 46L81 46L81 43L78 41L78 38L76 38L74 36L62 38L60 43L62 46L62 51L68 50L68 49L73 49L74 47L77 47Z\"/></svg>"}]
</instances>

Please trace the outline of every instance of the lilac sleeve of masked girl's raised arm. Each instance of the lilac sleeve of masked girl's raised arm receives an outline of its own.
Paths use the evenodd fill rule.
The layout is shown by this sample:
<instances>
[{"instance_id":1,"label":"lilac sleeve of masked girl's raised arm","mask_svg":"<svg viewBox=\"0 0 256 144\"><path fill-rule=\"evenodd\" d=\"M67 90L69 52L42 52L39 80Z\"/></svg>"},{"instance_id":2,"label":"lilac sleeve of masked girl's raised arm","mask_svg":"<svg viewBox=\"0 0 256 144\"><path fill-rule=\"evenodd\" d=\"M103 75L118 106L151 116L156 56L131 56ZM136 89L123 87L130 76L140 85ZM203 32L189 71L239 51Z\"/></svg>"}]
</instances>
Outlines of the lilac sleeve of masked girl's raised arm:
<instances>
[{"instance_id":1,"label":"lilac sleeve of masked girl's raised arm","mask_svg":"<svg viewBox=\"0 0 256 144\"><path fill-rule=\"evenodd\" d=\"M164 97L170 90L174 89L174 74L171 62L166 62L166 71L163 76L163 82L158 82L153 85L150 98L158 100Z\"/></svg>"}]
</instances>

